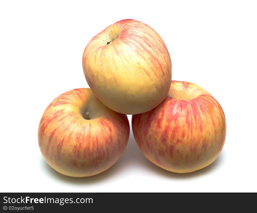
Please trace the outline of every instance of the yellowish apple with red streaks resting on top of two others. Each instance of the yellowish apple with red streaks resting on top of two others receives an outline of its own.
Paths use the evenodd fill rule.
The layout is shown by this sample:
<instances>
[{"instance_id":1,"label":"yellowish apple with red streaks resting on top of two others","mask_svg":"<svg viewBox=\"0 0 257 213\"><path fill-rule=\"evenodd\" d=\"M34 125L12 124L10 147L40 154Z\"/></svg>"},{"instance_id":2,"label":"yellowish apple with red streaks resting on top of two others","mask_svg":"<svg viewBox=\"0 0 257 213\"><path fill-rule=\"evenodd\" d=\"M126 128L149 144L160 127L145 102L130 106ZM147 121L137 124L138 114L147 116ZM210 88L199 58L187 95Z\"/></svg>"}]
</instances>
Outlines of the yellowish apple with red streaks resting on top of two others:
<instances>
[{"instance_id":1,"label":"yellowish apple with red streaks resting on top of two others","mask_svg":"<svg viewBox=\"0 0 257 213\"><path fill-rule=\"evenodd\" d=\"M171 59L162 38L137 20L121 20L87 44L83 71L96 97L122 114L160 104L171 84Z\"/></svg>"}]
</instances>

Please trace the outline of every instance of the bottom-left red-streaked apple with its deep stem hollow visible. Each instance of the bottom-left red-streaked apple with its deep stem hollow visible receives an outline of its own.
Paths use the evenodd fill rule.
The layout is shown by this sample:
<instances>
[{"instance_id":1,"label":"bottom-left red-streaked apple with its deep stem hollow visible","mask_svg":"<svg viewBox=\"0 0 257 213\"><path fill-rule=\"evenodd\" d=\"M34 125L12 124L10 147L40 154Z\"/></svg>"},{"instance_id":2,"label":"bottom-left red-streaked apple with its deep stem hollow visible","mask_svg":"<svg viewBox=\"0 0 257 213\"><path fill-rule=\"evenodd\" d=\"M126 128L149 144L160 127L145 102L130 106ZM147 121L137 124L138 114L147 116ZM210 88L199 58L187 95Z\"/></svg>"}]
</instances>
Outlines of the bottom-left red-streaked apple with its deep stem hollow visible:
<instances>
[{"instance_id":1,"label":"bottom-left red-streaked apple with its deep stem hollow visible","mask_svg":"<svg viewBox=\"0 0 257 213\"><path fill-rule=\"evenodd\" d=\"M102 104L89 88L67 91L48 105L38 143L46 162L61 174L86 177L110 168L129 139L126 115Z\"/></svg>"}]
</instances>

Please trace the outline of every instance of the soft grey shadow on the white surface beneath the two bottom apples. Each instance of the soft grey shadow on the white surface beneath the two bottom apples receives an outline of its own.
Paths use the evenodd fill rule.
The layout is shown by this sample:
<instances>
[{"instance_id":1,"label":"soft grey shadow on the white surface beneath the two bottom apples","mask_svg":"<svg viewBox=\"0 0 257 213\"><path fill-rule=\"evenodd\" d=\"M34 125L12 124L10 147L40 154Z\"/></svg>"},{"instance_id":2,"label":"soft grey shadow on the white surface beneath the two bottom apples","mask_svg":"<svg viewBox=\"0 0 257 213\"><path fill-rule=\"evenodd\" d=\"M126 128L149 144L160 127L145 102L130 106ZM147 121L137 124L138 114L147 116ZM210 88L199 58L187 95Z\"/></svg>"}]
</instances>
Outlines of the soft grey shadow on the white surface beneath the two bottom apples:
<instances>
[{"instance_id":1,"label":"soft grey shadow on the white surface beneath the two bottom apples","mask_svg":"<svg viewBox=\"0 0 257 213\"><path fill-rule=\"evenodd\" d=\"M52 167L50 167L43 159L43 157L41 157L40 159L41 159L41 165L44 168L44 170L47 173L49 173L51 176L53 176L55 179L58 179L59 181L61 180L72 184L95 184L101 181L107 181L110 178L114 178L115 175L117 175L118 173L121 173L122 171L128 169L129 167L145 168L150 172L152 172L154 175L160 175L162 177L170 178L171 180L195 178L210 172L214 172L216 168L220 167L224 163L225 153L223 150L220 156L208 167L205 167L196 172L191 172L186 174L177 174L177 173L166 171L154 165L149 160L147 160L147 158L145 158L143 153L141 153L140 149L138 148L131 130L129 142L126 147L126 150L124 151L123 155L118 160L118 162L115 163L108 170L91 177L76 178L76 177L65 176L63 174L56 172Z\"/></svg>"}]
</instances>

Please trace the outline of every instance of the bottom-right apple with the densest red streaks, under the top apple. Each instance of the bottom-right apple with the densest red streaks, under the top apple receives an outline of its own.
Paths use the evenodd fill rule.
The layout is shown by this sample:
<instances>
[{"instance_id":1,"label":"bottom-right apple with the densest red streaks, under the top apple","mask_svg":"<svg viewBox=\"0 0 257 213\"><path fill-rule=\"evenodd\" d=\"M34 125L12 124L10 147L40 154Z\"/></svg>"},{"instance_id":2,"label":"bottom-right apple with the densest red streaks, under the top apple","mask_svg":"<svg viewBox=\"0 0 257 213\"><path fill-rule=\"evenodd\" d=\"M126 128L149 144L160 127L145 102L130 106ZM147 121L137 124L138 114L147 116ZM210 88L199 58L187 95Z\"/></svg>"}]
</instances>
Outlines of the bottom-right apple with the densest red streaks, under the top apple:
<instances>
[{"instance_id":1,"label":"bottom-right apple with the densest red streaks, under the top apple","mask_svg":"<svg viewBox=\"0 0 257 213\"><path fill-rule=\"evenodd\" d=\"M165 170L194 172L211 164L226 137L218 101L196 84L172 81L153 110L132 116L132 130L145 157Z\"/></svg>"}]
</instances>

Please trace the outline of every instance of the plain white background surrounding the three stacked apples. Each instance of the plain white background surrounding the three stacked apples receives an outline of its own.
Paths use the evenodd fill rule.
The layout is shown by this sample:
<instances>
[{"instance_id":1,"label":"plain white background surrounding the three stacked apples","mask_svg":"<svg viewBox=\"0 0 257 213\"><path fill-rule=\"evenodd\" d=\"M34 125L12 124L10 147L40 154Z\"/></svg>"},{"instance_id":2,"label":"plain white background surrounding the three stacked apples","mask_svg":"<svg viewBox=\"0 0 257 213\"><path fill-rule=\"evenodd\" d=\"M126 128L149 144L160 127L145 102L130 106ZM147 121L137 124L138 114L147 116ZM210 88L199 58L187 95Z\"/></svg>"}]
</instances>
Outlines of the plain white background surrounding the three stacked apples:
<instances>
[{"instance_id":1,"label":"plain white background surrounding the three stacked apples","mask_svg":"<svg viewBox=\"0 0 257 213\"><path fill-rule=\"evenodd\" d=\"M256 192L256 9L254 1L1 1L1 192ZM127 18L160 34L173 80L196 83L218 100L225 146L209 167L174 174L143 156L131 130L109 170L66 177L41 156L40 118L62 92L88 87L86 44Z\"/></svg>"}]
</instances>

